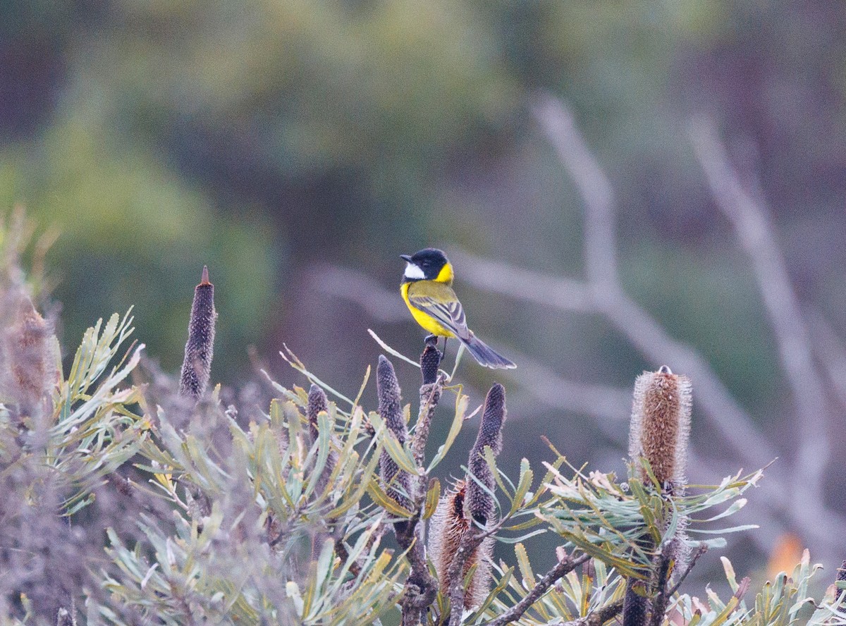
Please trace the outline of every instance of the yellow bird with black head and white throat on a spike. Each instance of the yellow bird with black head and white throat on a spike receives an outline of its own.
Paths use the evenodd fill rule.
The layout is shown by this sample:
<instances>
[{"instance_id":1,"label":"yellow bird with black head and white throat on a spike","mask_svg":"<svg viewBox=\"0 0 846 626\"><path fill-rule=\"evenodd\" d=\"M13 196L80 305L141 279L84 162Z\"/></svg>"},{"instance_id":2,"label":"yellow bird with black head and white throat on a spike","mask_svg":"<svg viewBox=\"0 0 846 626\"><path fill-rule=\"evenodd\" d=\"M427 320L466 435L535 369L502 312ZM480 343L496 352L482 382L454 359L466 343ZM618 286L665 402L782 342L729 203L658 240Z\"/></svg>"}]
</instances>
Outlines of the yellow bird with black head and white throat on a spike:
<instances>
[{"instance_id":1,"label":"yellow bird with black head and white throat on a spike","mask_svg":"<svg viewBox=\"0 0 846 626\"><path fill-rule=\"evenodd\" d=\"M480 365L494 370L517 367L467 327L464 307L452 287L453 264L442 250L425 248L414 255L399 255L399 258L405 261L399 293L415 321L434 336L436 345L438 337L443 338L444 349L448 338L458 338Z\"/></svg>"}]
</instances>

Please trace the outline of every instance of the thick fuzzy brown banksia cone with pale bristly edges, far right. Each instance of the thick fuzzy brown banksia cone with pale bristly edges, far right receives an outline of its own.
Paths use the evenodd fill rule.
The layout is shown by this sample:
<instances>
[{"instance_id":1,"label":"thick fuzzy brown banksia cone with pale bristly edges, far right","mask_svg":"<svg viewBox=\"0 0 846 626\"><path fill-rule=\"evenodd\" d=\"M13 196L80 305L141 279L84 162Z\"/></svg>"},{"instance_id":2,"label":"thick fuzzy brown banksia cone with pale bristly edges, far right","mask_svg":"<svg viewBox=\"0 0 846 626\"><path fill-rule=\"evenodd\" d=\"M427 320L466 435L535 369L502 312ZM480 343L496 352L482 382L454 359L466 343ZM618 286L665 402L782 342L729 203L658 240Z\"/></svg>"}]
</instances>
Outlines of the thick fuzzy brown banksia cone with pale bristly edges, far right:
<instances>
[{"instance_id":1,"label":"thick fuzzy brown banksia cone with pale bristly edges, far right","mask_svg":"<svg viewBox=\"0 0 846 626\"><path fill-rule=\"evenodd\" d=\"M652 473L674 493L684 490L690 436L690 381L667 365L645 371L634 382L629 456L649 461ZM641 472L641 480L648 480Z\"/></svg>"}]
</instances>

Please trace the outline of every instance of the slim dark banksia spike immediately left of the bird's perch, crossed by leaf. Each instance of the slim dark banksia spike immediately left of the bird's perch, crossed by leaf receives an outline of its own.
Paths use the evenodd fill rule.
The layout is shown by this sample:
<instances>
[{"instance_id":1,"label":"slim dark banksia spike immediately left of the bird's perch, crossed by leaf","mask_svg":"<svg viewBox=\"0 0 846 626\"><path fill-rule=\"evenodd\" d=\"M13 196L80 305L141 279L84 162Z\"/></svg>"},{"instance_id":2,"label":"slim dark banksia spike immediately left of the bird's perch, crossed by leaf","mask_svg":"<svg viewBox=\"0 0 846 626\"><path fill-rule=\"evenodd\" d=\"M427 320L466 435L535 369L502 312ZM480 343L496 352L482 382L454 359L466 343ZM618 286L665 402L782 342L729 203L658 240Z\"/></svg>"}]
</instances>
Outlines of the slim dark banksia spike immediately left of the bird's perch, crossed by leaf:
<instances>
[{"instance_id":1,"label":"slim dark banksia spike immediately left of the bird's perch, crossed by leaf","mask_svg":"<svg viewBox=\"0 0 846 626\"><path fill-rule=\"evenodd\" d=\"M409 437L409 431L403 419L402 397L397 374L393 371L391 361L382 354L379 355L379 365L376 367L376 392L379 394L380 417L388 430L397 437L398 442L404 445ZM382 456L379 457L379 473L382 475L387 494L403 507L411 508L411 502L407 497L410 495L411 485L408 472L401 471L385 450L382 450Z\"/></svg>"}]
</instances>

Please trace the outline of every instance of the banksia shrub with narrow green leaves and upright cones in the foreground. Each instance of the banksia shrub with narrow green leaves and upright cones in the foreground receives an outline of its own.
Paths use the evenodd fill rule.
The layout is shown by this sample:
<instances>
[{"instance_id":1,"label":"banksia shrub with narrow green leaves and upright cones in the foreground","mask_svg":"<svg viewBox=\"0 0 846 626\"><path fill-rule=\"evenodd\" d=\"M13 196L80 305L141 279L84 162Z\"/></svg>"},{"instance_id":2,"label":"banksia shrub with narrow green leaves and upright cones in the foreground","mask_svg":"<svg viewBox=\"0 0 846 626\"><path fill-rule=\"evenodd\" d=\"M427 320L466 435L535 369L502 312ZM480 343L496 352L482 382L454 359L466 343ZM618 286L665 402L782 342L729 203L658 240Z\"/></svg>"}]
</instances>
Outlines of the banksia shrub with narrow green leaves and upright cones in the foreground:
<instances>
[{"instance_id":1,"label":"banksia shrub with narrow green leaves and upright cones in the foreground","mask_svg":"<svg viewBox=\"0 0 846 626\"><path fill-rule=\"evenodd\" d=\"M224 403L237 394L208 391L216 314L206 271L179 382L135 376L144 346L127 348L129 314L97 321L63 371L52 324L30 304L17 256L3 250L15 240L7 234L0 232L4 626L610 626L621 612L638 626L799 623L799 599L809 597L816 572L807 552L748 604L749 579L738 581L728 560L725 600L709 590L705 604L678 590L696 557L724 546L720 535L745 530L715 528L714 520L737 511L762 475L684 485L684 376L662 368L638 379L628 482L574 467L554 449L541 475L522 459L509 477L497 466L504 387L487 393L465 456L453 448L470 398L457 382L445 384L431 345L420 355L419 404L408 414L384 356L375 411L360 402L365 383L347 398L290 351L283 358L305 387L267 376L272 392L260 409ZM403 367L418 362L383 347ZM430 426L442 415L446 435L427 455L430 431L439 431ZM467 459L466 471L442 495L449 477L441 464L455 454ZM494 563L497 540L514 552ZM679 560L680 546L695 549L689 563ZM552 568L536 572L532 549L554 550ZM807 609L811 623L843 623L836 589ZM629 607L633 597L640 612Z\"/></svg>"}]
</instances>

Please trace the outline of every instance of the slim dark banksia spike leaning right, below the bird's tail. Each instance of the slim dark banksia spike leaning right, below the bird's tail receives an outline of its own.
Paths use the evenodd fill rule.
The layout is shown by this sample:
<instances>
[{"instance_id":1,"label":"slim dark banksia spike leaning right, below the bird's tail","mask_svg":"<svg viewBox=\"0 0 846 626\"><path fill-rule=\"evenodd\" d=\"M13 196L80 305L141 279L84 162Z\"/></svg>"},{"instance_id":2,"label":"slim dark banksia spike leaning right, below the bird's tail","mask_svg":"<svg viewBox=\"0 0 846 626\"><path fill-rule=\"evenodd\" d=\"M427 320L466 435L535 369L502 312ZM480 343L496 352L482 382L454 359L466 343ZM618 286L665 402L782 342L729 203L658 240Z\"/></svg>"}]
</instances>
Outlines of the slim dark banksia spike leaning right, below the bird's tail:
<instances>
[{"instance_id":1,"label":"slim dark banksia spike leaning right, below the bird's tail","mask_svg":"<svg viewBox=\"0 0 846 626\"><path fill-rule=\"evenodd\" d=\"M494 455L503 449L503 422L505 421L505 387L498 382L491 387L485 398L485 410L481 416L479 435L470 450L467 467L470 473L480 480L489 491L496 488L496 480L485 460L485 447L492 449ZM467 506L473 519L479 524L487 524L494 513L495 505L491 494L469 479L467 485Z\"/></svg>"}]
</instances>

